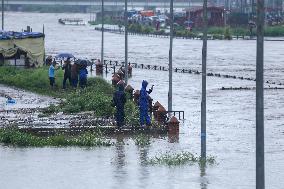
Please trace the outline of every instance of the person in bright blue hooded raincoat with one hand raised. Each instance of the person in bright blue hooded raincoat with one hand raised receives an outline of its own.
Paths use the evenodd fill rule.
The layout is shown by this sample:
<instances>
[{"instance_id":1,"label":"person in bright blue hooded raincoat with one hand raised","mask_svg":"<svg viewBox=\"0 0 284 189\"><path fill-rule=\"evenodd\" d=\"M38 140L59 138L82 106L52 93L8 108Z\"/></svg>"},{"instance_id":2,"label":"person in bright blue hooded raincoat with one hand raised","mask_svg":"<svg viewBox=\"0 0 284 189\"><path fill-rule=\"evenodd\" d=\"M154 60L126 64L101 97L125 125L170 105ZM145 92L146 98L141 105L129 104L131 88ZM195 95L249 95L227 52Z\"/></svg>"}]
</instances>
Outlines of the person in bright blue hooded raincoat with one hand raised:
<instances>
[{"instance_id":1,"label":"person in bright blue hooded raincoat with one hand raised","mask_svg":"<svg viewBox=\"0 0 284 189\"><path fill-rule=\"evenodd\" d=\"M140 125L143 126L145 121L146 125L151 124L151 119L148 114L148 108L149 108L149 103L148 103L148 97L149 94L153 91L153 86L149 91L147 91L147 85L148 82L143 80L142 81L142 88L140 90L140 98L139 98L139 110L140 110Z\"/></svg>"}]
</instances>

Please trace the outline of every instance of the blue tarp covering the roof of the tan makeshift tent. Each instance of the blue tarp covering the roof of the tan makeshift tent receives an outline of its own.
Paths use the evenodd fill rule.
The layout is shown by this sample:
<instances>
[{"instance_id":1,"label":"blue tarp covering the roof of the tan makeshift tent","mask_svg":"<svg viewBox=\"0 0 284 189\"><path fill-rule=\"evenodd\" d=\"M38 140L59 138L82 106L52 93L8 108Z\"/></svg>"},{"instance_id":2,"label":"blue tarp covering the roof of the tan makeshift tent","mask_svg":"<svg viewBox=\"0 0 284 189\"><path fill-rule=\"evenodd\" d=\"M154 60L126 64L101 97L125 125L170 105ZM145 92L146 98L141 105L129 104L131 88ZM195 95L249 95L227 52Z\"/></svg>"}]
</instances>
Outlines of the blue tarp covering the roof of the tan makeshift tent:
<instances>
[{"instance_id":1,"label":"blue tarp covering the roof of the tan makeshift tent","mask_svg":"<svg viewBox=\"0 0 284 189\"><path fill-rule=\"evenodd\" d=\"M38 38L43 36L44 34L40 32L0 31L0 40Z\"/></svg>"}]
</instances>

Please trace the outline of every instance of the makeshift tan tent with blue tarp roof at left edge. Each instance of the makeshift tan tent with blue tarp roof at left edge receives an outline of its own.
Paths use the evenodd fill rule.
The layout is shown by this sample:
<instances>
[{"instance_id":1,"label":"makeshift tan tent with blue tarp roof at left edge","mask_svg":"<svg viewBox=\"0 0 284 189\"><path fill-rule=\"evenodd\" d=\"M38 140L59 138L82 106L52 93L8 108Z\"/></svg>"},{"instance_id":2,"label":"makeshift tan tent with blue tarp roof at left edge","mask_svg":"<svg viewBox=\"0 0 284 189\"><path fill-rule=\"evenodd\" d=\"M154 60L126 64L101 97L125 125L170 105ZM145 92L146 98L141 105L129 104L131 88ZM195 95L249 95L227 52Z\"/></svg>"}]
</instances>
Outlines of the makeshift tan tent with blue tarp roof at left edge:
<instances>
[{"instance_id":1,"label":"makeshift tan tent with blue tarp roof at left edge","mask_svg":"<svg viewBox=\"0 0 284 189\"><path fill-rule=\"evenodd\" d=\"M24 52L31 64L44 64L44 34L38 32L0 32L0 56L11 59Z\"/></svg>"}]
</instances>

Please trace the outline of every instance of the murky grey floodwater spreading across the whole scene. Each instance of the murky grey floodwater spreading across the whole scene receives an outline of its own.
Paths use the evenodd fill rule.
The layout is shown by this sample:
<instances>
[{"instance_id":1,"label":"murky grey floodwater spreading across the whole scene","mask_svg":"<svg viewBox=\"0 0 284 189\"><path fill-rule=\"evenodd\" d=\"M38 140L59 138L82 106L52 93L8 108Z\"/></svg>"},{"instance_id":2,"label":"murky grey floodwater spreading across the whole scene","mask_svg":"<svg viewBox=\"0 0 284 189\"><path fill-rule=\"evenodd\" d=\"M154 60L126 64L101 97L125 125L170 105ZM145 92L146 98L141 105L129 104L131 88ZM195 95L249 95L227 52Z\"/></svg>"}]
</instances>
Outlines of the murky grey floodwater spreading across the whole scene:
<instances>
[{"instance_id":1,"label":"murky grey floodwater spreading across the whole scene","mask_svg":"<svg viewBox=\"0 0 284 189\"><path fill-rule=\"evenodd\" d=\"M91 26L58 24L65 17L87 21L89 15L8 12L5 23L7 30L15 31L27 25L42 31L44 24L47 54L70 52L81 58L98 58L100 33ZM167 66L168 45L169 39L129 36L129 61ZM174 67L200 71L201 47L200 40L174 40ZM255 78L255 47L256 41L209 41L208 72ZM106 59L123 61L123 48L123 35L105 34ZM265 80L275 83L265 87L279 87L284 82L284 42L266 41L264 57ZM155 85L154 101L167 106L168 73L134 69L129 83L139 89L143 79ZM177 142L165 137L139 148L132 139L118 136L118 143L108 148L0 146L1 188L254 188L255 90L220 90L254 87L254 81L207 78L207 154L216 156L217 165L201 170L198 165L144 164L145 159L165 152L200 154L201 75L175 73L173 79L173 109L184 110L186 118ZM2 101L5 99L0 97ZM267 188L283 188L284 90L265 90L265 166Z\"/></svg>"}]
</instances>

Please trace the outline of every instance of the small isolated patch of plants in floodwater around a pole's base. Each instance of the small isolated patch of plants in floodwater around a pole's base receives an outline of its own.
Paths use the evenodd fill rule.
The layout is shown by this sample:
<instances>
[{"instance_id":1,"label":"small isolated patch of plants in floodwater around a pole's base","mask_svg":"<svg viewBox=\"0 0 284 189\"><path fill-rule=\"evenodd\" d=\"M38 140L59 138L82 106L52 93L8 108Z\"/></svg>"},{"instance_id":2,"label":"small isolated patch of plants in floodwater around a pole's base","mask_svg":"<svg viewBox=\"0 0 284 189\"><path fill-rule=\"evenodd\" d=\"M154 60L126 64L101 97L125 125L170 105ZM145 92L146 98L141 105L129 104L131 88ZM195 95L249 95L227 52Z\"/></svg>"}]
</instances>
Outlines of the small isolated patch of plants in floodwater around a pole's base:
<instances>
[{"instance_id":1,"label":"small isolated patch of plants in floodwater around a pole's base","mask_svg":"<svg viewBox=\"0 0 284 189\"><path fill-rule=\"evenodd\" d=\"M207 159L204 160L200 157L195 157L190 152L181 152L175 154L166 153L148 160L148 164L150 165L180 166L195 163L198 163L199 165L213 165L216 163L216 160L214 157L207 157Z\"/></svg>"}]
</instances>

